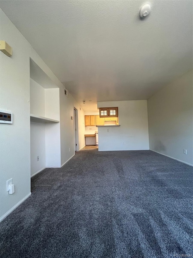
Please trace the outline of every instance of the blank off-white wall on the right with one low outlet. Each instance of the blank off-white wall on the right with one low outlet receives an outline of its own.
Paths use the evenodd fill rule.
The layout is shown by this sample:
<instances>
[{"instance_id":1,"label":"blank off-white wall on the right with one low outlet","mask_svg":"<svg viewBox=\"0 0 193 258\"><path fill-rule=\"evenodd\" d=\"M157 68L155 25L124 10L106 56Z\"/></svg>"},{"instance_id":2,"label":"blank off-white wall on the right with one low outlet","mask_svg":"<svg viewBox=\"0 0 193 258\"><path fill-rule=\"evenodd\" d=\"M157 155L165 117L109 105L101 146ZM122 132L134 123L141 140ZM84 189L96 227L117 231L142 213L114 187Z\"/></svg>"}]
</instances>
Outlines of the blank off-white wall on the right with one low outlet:
<instances>
[{"instance_id":1,"label":"blank off-white wall on the right with one low outlet","mask_svg":"<svg viewBox=\"0 0 193 258\"><path fill-rule=\"evenodd\" d=\"M191 70L147 101L150 149L188 164L193 164L192 84Z\"/></svg>"}]
</instances>

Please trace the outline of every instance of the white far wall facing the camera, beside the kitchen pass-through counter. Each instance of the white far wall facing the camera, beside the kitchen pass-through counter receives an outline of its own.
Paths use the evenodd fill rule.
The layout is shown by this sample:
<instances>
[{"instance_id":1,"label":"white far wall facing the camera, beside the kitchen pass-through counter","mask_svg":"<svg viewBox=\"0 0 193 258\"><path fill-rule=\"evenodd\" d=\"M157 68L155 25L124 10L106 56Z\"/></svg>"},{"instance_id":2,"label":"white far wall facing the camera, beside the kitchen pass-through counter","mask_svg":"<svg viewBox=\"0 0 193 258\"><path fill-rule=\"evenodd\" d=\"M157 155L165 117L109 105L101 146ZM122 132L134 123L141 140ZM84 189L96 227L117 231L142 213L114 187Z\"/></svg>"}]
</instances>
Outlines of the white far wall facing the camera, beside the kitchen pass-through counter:
<instances>
[{"instance_id":1,"label":"white far wall facing the camera, beside the kitchen pass-through counter","mask_svg":"<svg viewBox=\"0 0 193 258\"><path fill-rule=\"evenodd\" d=\"M149 149L147 100L98 102L97 106L118 107L120 125L98 127L99 151Z\"/></svg>"}]
</instances>

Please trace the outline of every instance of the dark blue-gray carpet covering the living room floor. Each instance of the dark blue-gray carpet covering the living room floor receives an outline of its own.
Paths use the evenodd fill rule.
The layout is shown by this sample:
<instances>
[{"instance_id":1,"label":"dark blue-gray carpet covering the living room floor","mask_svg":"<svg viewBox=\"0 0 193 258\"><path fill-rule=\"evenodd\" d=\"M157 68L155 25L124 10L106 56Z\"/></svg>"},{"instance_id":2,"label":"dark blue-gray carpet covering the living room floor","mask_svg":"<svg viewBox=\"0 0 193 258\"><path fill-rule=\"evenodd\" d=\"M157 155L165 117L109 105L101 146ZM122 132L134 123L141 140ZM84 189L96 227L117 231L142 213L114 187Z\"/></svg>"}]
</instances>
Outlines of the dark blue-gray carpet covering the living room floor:
<instances>
[{"instance_id":1,"label":"dark blue-gray carpet covering the living room floor","mask_svg":"<svg viewBox=\"0 0 193 258\"><path fill-rule=\"evenodd\" d=\"M152 151L82 150L31 181L0 224L0 257L193 255L191 166Z\"/></svg>"}]
</instances>

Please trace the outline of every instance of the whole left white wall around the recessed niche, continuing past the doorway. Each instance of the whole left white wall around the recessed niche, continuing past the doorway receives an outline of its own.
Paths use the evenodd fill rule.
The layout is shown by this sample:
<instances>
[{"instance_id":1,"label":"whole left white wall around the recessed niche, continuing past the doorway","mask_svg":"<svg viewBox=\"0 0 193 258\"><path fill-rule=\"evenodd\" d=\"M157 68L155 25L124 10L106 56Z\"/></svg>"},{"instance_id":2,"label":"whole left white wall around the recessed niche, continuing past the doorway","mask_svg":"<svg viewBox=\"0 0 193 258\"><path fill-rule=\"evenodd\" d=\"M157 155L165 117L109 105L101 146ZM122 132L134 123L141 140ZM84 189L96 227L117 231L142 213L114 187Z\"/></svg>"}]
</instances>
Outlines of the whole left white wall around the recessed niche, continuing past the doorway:
<instances>
[{"instance_id":1,"label":"whole left white wall around the recessed niche, continuing past the doorway","mask_svg":"<svg viewBox=\"0 0 193 258\"><path fill-rule=\"evenodd\" d=\"M0 9L1 39L8 42L13 55L0 51L0 109L13 113L13 124L0 124L0 220L30 195L30 57L60 88L60 129L62 130L61 160L66 162L74 149L74 105L79 105L69 94L62 95L64 86L33 50L23 35ZM34 109L34 107L32 108ZM67 110L67 114L65 113ZM80 110L80 146L84 144L84 110ZM69 121L70 119L70 121ZM72 121L72 124L71 124ZM64 126L64 127L63 127ZM67 140L66 140L67 139ZM67 152L69 145L72 152ZM60 160L60 163L61 163ZM13 178L15 193L6 192L6 181Z\"/></svg>"}]
</instances>

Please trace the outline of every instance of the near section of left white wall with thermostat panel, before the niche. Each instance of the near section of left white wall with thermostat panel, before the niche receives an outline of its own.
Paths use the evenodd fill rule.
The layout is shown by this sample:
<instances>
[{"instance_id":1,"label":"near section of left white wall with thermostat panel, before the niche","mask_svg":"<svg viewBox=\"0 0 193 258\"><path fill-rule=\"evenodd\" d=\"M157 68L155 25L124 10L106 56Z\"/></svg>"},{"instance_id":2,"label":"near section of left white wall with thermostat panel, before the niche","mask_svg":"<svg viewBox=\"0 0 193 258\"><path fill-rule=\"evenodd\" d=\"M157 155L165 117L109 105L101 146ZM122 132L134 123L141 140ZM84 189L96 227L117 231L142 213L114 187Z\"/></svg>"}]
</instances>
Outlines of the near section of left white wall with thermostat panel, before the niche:
<instances>
[{"instance_id":1,"label":"near section of left white wall with thermostat panel, before the niche","mask_svg":"<svg viewBox=\"0 0 193 258\"><path fill-rule=\"evenodd\" d=\"M26 39L0 9L1 39L13 49L0 51L0 109L13 113L13 124L0 124L0 220L30 194L30 69ZM15 193L6 192L13 178Z\"/></svg>"}]
</instances>

